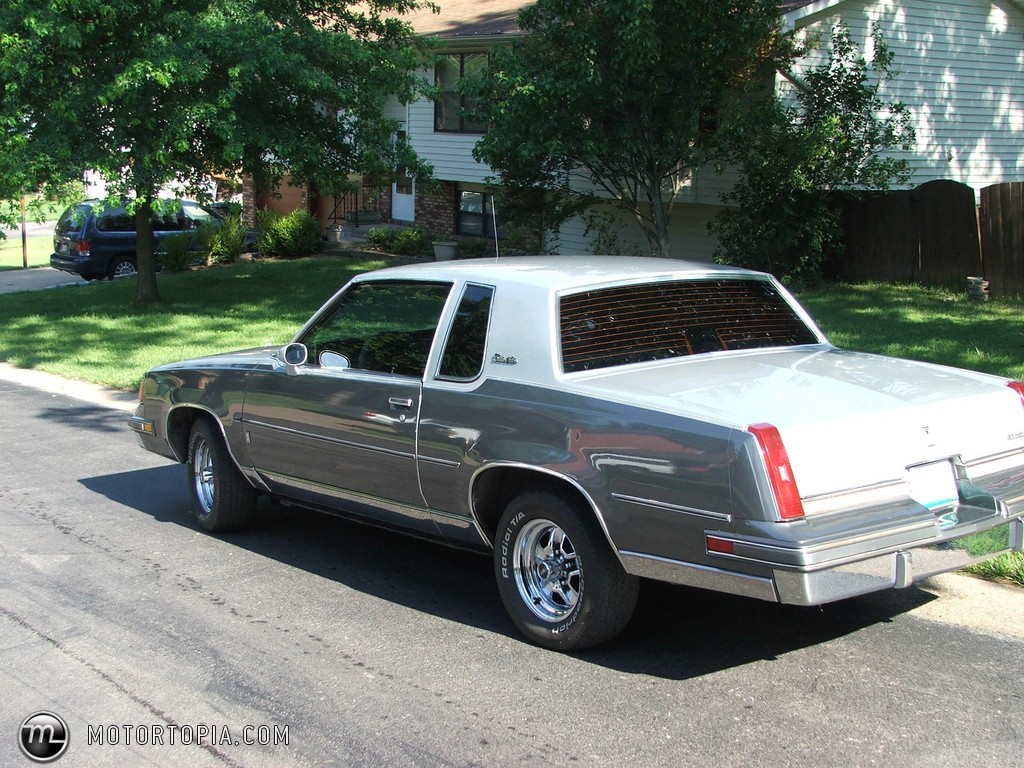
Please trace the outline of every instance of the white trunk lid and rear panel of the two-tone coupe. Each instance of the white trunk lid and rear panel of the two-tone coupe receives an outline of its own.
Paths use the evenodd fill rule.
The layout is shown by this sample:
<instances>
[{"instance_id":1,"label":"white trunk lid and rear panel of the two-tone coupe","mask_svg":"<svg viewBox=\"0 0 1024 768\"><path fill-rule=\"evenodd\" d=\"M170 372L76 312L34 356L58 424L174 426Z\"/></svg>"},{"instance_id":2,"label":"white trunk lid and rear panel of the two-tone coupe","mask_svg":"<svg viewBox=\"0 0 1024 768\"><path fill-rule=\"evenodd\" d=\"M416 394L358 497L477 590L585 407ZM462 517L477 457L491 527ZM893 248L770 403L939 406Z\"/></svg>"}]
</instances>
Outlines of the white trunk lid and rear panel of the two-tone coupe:
<instances>
[{"instance_id":1,"label":"white trunk lid and rear panel of the two-tone coupe","mask_svg":"<svg viewBox=\"0 0 1024 768\"><path fill-rule=\"evenodd\" d=\"M1024 407L1005 379L834 347L701 355L579 384L739 430L772 424L804 497L1024 449Z\"/></svg>"}]
</instances>

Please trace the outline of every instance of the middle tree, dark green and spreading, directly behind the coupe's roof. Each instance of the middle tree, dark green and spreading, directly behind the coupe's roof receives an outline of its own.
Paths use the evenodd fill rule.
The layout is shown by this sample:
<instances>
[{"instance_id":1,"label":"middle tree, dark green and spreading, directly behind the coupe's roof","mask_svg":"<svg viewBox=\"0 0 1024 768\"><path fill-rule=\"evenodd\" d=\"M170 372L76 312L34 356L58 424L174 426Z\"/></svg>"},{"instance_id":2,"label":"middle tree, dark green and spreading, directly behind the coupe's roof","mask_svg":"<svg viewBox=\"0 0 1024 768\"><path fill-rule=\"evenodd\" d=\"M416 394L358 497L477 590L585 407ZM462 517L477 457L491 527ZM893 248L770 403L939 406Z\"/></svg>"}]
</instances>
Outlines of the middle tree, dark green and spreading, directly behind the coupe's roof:
<instances>
[{"instance_id":1,"label":"middle tree, dark green and spreading, directly behind the coupe's roof","mask_svg":"<svg viewBox=\"0 0 1024 768\"><path fill-rule=\"evenodd\" d=\"M673 205L715 154L727 100L785 56L775 0L539 0L476 84L475 157L548 225L610 198L670 255Z\"/></svg>"}]
</instances>

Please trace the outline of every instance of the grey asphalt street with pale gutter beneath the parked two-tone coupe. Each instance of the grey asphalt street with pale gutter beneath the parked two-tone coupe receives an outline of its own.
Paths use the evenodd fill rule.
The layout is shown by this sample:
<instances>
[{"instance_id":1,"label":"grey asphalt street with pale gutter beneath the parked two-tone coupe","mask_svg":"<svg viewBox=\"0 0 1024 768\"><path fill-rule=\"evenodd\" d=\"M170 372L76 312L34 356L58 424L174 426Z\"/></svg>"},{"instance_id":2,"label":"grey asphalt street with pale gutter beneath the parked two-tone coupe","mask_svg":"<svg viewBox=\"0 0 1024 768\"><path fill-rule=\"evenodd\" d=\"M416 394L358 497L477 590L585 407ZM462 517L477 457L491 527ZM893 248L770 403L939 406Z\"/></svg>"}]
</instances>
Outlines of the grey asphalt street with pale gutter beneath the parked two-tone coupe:
<instances>
[{"instance_id":1,"label":"grey asphalt street with pale gutter beneath the parked two-tone coupe","mask_svg":"<svg viewBox=\"0 0 1024 768\"><path fill-rule=\"evenodd\" d=\"M61 768L1024 766L1024 638L935 618L929 584L822 609L644 584L562 655L484 558L269 504L209 536L123 411L3 380L0 409L2 766L38 711Z\"/></svg>"}]
</instances>

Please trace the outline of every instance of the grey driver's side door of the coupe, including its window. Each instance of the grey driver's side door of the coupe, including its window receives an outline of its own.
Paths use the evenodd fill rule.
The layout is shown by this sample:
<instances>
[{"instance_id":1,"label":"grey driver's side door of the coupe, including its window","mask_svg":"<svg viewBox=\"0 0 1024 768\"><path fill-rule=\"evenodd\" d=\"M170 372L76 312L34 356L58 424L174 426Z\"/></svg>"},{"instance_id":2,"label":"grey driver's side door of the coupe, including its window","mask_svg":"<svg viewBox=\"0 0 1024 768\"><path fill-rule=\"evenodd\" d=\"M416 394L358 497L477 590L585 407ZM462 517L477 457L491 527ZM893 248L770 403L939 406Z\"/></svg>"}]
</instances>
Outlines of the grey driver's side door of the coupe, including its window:
<instances>
[{"instance_id":1,"label":"grey driver's side door of the coupe, including its window","mask_svg":"<svg viewBox=\"0 0 1024 768\"><path fill-rule=\"evenodd\" d=\"M451 285L359 283L297 341L299 367L255 375L243 409L250 461L271 488L430 527L416 467L423 375Z\"/></svg>"}]
</instances>

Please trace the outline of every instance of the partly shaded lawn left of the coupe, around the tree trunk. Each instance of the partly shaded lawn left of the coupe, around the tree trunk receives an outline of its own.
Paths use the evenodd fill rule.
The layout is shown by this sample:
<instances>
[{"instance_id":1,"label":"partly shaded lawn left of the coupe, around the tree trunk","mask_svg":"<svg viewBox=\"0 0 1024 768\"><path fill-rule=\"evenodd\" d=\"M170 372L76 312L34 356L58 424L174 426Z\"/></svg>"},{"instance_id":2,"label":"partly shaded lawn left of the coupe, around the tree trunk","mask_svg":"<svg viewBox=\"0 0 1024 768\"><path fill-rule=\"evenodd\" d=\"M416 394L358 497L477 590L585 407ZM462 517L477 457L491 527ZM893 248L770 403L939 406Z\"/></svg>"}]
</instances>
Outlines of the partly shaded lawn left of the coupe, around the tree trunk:
<instances>
[{"instance_id":1,"label":"partly shaded lawn left of the coupe, around the tree trunk","mask_svg":"<svg viewBox=\"0 0 1024 768\"><path fill-rule=\"evenodd\" d=\"M7 294L0 359L131 390L163 362L284 343L351 275L383 265L325 256L161 274L164 300L142 309L130 280Z\"/></svg>"}]
</instances>

